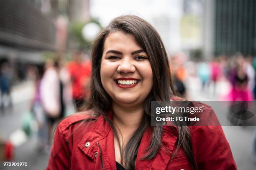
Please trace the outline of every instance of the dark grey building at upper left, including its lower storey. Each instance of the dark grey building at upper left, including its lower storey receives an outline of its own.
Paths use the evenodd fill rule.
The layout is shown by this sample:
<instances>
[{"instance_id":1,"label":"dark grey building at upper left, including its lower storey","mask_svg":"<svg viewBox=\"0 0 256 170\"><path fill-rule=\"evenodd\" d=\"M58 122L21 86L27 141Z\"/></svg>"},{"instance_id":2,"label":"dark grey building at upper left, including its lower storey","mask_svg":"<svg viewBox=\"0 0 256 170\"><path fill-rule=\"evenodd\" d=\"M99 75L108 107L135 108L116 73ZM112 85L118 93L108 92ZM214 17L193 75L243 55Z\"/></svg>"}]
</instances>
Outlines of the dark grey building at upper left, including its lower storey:
<instances>
[{"instance_id":1,"label":"dark grey building at upper left, including its lower storey","mask_svg":"<svg viewBox=\"0 0 256 170\"><path fill-rule=\"evenodd\" d=\"M43 0L1 1L0 65L8 61L17 80L25 78L27 64L43 61L42 51L56 49L55 25L42 13L43 3Z\"/></svg>"}]
</instances>

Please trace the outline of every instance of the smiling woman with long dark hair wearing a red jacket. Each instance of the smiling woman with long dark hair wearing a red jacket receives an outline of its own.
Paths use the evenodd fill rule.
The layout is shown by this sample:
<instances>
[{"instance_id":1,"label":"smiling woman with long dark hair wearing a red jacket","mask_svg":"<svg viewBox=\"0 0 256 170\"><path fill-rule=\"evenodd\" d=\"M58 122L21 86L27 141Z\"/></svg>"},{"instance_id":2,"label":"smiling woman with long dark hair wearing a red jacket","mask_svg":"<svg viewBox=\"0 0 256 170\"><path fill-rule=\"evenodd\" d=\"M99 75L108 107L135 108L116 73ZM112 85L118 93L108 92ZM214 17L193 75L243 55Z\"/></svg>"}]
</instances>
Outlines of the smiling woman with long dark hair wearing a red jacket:
<instances>
[{"instance_id":1,"label":"smiling woman with long dark hair wearing a red jacket","mask_svg":"<svg viewBox=\"0 0 256 170\"><path fill-rule=\"evenodd\" d=\"M221 126L151 126L151 101L177 97L163 42L145 20L121 16L97 35L91 80L87 110L56 129L48 170L236 169ZM203 113L214 114L207 105Z\"/></svg>"}]
</instances>

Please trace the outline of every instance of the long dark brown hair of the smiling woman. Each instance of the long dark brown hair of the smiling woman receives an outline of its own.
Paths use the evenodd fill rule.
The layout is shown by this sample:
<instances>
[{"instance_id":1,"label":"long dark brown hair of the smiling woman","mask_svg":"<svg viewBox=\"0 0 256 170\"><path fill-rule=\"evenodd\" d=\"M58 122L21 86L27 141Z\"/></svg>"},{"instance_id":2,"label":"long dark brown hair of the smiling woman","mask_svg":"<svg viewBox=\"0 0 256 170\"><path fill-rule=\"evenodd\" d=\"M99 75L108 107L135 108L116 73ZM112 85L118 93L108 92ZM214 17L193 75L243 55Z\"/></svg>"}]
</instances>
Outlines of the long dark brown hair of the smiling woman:
<instances>
[{"instance_id":1,"label":"long dark brown hair of the smiling woman","mask_svg":"<svg viewBox=\"0 0 256 170\"><path fill-rule=\"evenodd\" d=\"M125 34L132 34L138 45L148 54L153 71L153 87L144 102L144 115L139 128L133 133L125 147L120 146L120 140L113 122L108 120L106 112L112 108L112 100L104 90L100 79L100 65L102 52L106 37L111 32L121 31ZM135 161L138 153L141 138L149 127L152 133L152 140L148 146L148 153L142 158L150 160L155 158L161 145L161 136L163 126L150 126L151 122L151 101L168 101L172 95L175 95L170 67L164 44L156 30L145 20L135 15L120 16L104 28L96 37L92 45L92 77L91 77L91 95L87 104L87 109L94 110L98 115L102 115L107 120L114 131L118 140L121 163L124 163L127 170L135 169ZM192 166L196 168L195 158L191 149L189 128L186 126L178 128L177 149L172 158L180 147L187 154ZM171 152L171 151L170 151Z\"/></svg>"}]
</instances>

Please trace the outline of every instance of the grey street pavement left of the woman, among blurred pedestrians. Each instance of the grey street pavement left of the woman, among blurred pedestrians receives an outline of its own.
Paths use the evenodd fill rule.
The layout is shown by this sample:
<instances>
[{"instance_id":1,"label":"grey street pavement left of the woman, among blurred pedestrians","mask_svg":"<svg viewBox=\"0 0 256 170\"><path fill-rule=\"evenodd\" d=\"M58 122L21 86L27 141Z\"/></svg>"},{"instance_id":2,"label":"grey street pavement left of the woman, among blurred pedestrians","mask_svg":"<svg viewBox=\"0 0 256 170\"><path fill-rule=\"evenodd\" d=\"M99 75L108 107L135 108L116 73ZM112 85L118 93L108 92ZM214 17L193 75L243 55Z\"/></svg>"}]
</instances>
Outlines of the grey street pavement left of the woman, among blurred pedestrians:
<instances>
[{"instance_id":1,"label":"grey street pavement left of the woman, among blurred pedestrians","mask_svg":"<svg viewBox=\"0 0 256 170\"><path fill-rule=\"evenodd\" d=\"M10 140L10 136L21 128L23 115L29 110L32 96L31 82L24 82L13 88L13 107L0 111L0 135L3 140ZM49 151L46 150L44 153L37 151L36 132L33 132L30 138L15 147L13 158L14 162L27 162L28 166L0 168L0 170L44 170Z\"/></svg>"}]
</instances>

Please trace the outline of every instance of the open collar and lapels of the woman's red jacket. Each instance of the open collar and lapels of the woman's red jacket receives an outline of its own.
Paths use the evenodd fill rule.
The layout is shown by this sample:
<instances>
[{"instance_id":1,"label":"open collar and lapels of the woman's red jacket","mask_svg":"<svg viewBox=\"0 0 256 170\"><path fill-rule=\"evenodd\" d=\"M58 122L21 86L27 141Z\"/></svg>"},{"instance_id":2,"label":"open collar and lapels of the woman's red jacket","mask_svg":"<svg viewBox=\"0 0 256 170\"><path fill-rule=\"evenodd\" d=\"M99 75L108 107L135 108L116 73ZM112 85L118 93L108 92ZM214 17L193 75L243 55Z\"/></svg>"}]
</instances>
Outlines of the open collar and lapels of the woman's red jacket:
<instances>
[{"instance_id":1,"label":"open collar and lapels of the woman's red jacket","mask_svg":"<svg viewBox=\"0 0 256 170\"><path fill-rule=\"evenodd\" d=\"M108 113L108 118L110 120L113 120L112 112ZM157 169L159 167L159 164L161 164L160 167L166 167L172 156L172 153L174 152L174 145L177 141L177 136L178 135L177 135L176 126L163 126L163 135L162 135L163 147L159 148L159 152L157 153L156 158L152 160L142 160L141 158L143 158L146 155L147 153L146 149L148 148L151 142L151 131L150 131L150 128L148 128L144 133L141 139L140 146L138 148L138 155L136 159L136 170L149 169L150 167L151 168L155 167L155 169ZM96 162L95 152L97 151L97 142L100 143L101 140L105 140L107 137L108 137L108 148L103 148L103 150L108 152L106 153L102 152L102 154L105 155L104 156L105 164L107 159L109 161L107 163L107 166L111 167L110 169L116 169L113 130L111 130L110 125L102 115L100 115L97 118L94 127L89 132L84 134L84 137L82 138L78 147L86 155L88 155L93 161ZM88 147L85 146L87 142L90 142L90 146ZM102 145L102 147L107 147L107 146ZM171 153L167 152L164 148L171 151Z\"/></svg>"}]
</instances>

